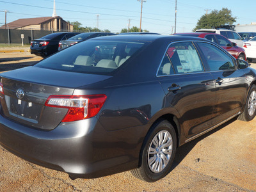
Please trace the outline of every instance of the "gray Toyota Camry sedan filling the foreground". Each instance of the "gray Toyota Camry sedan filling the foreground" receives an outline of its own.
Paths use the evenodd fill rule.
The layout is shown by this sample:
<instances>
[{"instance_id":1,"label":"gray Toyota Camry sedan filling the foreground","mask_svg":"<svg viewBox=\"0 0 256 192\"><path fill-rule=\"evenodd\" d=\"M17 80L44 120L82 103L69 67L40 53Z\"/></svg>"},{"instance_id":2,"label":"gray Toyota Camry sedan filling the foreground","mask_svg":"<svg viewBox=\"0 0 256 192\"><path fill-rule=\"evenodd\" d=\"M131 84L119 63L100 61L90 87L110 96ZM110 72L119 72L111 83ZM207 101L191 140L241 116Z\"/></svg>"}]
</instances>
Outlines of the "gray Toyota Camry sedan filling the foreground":
<instances>
[{"instance_id":1,"label":"gray Toyota Camry sedan filling the foreground","mask_svg":"<svg viewBox=\"0 0 256 192\"><path fill-rule=\"evenodd\" d=\"M254 118L255 73L202 38L93 38L0 75L0 143L72 179L154 182L180 145Z\"/></svg>"}]
</instances>

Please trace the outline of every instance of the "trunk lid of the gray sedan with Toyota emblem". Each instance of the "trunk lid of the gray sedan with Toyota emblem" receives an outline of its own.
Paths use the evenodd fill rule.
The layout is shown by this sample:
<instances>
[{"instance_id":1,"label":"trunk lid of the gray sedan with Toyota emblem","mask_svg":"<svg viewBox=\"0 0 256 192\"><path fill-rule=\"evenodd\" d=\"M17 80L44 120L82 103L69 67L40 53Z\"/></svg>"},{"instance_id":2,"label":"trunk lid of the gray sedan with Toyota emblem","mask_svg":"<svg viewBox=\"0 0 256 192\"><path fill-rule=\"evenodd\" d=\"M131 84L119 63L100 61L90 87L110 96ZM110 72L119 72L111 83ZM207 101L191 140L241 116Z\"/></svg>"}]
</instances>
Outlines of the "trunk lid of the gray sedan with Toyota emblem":
<instances>
[{"instance_id":1,"label":"trunk lid of the gray sedan with Toyota emblem","mask_svg":"<svg viewBox=\"0 0 256 192\"><path fill-rule=\"evenodd\" d=\"M13 78L17 77L17 78ZM1 74L3 115L37 129L54 129L67 114L66 108L45 106L50 95L72 95L79 86L109 78L93 74L27 67Z\"/></svg>"}]
</instances>

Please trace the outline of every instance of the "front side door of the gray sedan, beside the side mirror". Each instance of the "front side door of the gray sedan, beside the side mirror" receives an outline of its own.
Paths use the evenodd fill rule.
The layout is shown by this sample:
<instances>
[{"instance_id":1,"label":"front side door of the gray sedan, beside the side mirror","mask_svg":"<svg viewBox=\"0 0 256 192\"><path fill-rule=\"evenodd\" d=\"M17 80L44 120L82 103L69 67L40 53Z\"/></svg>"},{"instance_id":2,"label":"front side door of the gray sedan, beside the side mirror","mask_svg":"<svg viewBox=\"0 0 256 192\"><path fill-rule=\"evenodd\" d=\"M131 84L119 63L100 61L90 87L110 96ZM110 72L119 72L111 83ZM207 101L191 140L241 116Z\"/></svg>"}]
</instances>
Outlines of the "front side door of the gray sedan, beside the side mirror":
<instances>
[{"instance_id":1,"label":"front side door of the gray sedan, beside the side mirror","mask_svg":"<svg viewBox=\"0 0 256 192\"><path fill-rule=\"evenodd\" d=\"M198 42L209 65L216 85L216 106L212 125L237 115L246 99L246 78L243 69L237 69L235 61L219 47L207 42Z\"/></svg>"}]
</instances>

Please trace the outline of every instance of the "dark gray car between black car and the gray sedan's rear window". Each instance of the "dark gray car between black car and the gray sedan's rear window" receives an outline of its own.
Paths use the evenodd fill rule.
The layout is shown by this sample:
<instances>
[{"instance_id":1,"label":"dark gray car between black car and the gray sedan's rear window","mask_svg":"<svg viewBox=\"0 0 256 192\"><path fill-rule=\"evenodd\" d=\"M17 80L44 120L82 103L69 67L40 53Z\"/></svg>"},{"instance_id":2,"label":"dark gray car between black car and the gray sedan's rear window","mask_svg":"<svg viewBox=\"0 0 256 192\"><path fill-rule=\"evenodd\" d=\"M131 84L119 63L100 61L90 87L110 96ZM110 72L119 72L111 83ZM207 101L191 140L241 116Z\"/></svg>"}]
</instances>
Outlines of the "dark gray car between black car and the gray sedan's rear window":
<instances>
[{"instance_id":1,"label":"dark gray car between black car and the gray sedan's rear window","mask_svg":"<svg viewBox=\"0 0 256 192\"><path fill-rule=\"evenodd\" d=\"M109 35L116 35L114 33L105 33L105 32L90 32L90 33L81 33L76 36L72 36L68 40L61 40L59 43L58 50L65 49L69 47L70 45L77 44L79 42L83 42L85 40L88 40L90 38L98 37L98 36L109 36Z\"/></svg>"}]
</instances>

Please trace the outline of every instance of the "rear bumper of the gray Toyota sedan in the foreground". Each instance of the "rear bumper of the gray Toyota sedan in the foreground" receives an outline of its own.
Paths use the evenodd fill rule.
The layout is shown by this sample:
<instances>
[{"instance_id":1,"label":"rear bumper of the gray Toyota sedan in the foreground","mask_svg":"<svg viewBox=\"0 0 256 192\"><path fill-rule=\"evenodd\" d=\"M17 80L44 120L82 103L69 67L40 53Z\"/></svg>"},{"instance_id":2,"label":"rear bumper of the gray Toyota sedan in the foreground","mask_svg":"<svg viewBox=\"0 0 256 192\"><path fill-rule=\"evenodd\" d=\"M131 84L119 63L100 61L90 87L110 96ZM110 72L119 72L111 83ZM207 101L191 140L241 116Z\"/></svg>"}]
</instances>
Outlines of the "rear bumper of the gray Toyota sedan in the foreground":
<instances>
[{"instance_id":1,"label":"rear bumper of the gray Toyota sedan in the foreground","mask_svg":"<svg viewBox=\"0 0 256 192\"><path fill-rule=\"evenodd\" d=\"M31 163L72 177L95 178L138 166L143 137L137 128L108 132L93 117L41 131L0 115L0 144Z\"/></svg>"}]
</instances>

